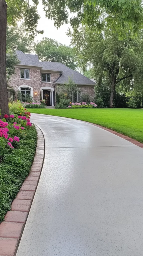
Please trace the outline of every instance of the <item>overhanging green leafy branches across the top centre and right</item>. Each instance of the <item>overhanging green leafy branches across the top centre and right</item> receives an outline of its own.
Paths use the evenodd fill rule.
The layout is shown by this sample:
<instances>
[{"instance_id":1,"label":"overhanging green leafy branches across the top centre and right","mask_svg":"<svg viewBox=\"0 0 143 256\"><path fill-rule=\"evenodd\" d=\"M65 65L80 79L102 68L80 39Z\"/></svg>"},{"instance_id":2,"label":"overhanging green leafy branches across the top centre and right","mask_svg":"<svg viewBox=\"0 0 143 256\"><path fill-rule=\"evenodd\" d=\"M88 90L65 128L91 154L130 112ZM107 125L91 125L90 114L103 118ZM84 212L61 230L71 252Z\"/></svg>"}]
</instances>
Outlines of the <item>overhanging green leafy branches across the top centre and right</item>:
<instances>
[{"instance_id":1,"label":"overhanging green leafy branches across the top centre and right","mask_svg":"<svg viewBox=\"0 0 143 256\"><path fill-rule=\"evenodd\" d=\"M120 37L125 36L128 29L136 33L143 23L141 0L43 0L43 6L56 27L68 23L69 13L75 13L70 18L73 27L88 24L100 28L105 18L108 28L118 31Z\"/></svg>"}]
</instances>

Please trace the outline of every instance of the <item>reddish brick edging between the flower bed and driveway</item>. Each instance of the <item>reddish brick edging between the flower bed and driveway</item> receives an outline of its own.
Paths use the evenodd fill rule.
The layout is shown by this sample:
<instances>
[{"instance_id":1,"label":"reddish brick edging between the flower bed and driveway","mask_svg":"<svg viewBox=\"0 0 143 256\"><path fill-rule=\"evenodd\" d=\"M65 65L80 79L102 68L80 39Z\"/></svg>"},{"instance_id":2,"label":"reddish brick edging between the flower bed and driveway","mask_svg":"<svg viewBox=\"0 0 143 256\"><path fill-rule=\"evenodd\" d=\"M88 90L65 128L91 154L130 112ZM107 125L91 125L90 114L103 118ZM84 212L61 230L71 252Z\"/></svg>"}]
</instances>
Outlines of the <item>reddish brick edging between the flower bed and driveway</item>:
<instances>
[{"instance_id":1,"label":"reddish brick edging between the flower bed and driveway","mask_svg":"<svg viewBox=\"0 0 143 256\"><path fill-rule=\"evenodd\" d=\"M11 211L7 212L4 221L0 224L0 256L14 256L16 254L41 175L45 141L40 128L37 125L35 127L37 147L30 173L24 180L16 199L13 200Z\"/></svg>"}]
</instances>

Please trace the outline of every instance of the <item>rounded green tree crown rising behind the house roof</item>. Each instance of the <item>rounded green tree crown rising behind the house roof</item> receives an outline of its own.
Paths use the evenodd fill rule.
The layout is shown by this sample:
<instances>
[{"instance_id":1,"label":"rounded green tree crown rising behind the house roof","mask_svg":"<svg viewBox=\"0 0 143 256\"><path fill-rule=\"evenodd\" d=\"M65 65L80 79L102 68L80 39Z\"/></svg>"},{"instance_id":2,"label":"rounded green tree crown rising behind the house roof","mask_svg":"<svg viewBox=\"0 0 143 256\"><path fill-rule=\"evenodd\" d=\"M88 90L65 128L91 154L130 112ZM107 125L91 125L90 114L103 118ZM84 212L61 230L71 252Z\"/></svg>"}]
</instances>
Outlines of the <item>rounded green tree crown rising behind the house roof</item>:
<instances>
[{"instance_id":1,"label":"rounded green tree crown rising behind the house roof","mask_svg":"<svg viewBox=\"0 0 143 256\"><path fill-rule=\"evenodd\" d=\"M71 69L75 69L73 48L62 45L56 40L43 37L34 46L35 52L41 61L61 62Z\"/></svg>"}]
</instances>

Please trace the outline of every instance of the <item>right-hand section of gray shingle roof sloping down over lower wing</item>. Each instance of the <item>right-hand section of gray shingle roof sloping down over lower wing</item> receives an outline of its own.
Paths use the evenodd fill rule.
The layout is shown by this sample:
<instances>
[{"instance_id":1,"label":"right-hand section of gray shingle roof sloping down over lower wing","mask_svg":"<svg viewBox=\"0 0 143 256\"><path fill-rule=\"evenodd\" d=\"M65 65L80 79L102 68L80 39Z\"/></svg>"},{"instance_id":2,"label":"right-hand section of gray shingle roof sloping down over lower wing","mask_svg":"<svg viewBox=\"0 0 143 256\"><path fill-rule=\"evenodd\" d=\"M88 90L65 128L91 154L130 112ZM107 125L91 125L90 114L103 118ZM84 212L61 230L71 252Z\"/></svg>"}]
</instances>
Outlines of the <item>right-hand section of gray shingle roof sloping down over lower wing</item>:
<instances>
[{"instance_id":1,"label":"right-hand section of gray shingle roof sloping down over lower wing","mask_svg":"<svg viewBox=\"0 0 143 256\"><path fill-rule=\"evenodd\" d=\"M47 70L55 70L55 71L62 71L62 75L60 78L55 82L55 84L64 84L67 83L69 80L69 77L73 79L75 84L79 85L95 85L93 81L88 79L87 77L83 76L77 71L72 70L71 68L68 68L61 62L50 62L50 61L43 61L41 62L43 64L42 69Z\"/></svg>"}]
</instances>

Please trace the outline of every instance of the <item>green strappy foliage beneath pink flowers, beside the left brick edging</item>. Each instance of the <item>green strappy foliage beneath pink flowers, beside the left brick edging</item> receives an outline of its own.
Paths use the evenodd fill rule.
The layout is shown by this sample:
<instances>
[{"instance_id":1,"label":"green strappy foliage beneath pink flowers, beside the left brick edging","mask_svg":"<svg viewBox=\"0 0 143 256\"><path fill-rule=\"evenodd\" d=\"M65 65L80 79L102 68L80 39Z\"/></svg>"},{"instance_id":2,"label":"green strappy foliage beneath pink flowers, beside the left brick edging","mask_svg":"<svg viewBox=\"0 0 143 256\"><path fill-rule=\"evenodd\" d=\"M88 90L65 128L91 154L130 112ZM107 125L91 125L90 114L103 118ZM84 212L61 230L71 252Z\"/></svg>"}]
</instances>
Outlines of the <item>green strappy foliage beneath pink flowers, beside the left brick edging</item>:
<instances>
[{"instance_id":1,"label":"green strappy foliage beneath pink flowers, beside the left brick edging","mask_svg":"<svg viewBox=\"0 0 143 256\"><path fill-rule=\"evenodd\" d=\"M23 120L21 122L22 124L24 123ZM20 140L17 139L18 137L15 137L13 142L11 142L14 146L13 149L11 148L12 146L7 145L8 143L4 141L8 140L8 138L1 137L0 222L4 220L6 212L10 210L12 200L15 199L24 179L28 176L34 159L37 144L36 128L34 125L31 127L29 125L24 126L25 128L22 127L24 130L21 128L17 130L12 128L12 126L9 130L9 132L11 131L11 134L9 133L10 137L12 137L12 129L15 129L15 133L21 134L19 135Z\"/></svg>"}]
</instances>

